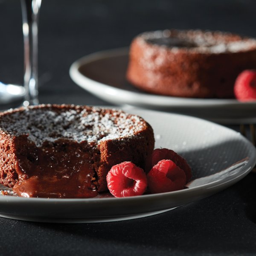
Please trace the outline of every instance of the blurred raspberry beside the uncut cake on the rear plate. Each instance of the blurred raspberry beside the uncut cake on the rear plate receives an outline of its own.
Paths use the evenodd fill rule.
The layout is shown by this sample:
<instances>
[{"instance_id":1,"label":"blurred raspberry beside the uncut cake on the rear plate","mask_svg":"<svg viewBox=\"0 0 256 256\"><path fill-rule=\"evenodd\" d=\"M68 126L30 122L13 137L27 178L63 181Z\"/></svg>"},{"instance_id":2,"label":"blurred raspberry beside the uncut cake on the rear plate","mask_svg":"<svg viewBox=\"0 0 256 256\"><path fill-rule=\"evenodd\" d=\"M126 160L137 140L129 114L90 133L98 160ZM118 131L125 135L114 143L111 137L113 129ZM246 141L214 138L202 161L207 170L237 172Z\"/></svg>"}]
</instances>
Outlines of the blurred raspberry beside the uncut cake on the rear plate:
<instances>
[{"instance_id":1,"label":"blurred raspberry beside the uncut cake on the rear plate","mask_svg":"<svg viewBox=\"0 0 256 256\"><path fill-rule=\"evenodd\" d=\"M256 100L256 70L244 70L236 79L234 86L236 99Z\"/></svg>"}]
</instances>

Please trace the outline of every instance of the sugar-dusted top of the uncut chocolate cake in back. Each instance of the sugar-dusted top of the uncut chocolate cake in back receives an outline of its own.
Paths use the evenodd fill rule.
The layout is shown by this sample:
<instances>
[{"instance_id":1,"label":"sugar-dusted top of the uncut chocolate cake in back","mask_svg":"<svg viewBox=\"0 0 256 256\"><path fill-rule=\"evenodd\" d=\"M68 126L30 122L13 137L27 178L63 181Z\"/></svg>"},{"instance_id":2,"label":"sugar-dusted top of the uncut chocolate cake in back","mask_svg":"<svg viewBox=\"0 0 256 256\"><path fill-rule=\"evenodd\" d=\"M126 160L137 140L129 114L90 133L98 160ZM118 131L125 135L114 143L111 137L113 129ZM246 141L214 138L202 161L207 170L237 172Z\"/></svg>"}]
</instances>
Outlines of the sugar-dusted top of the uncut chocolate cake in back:
<instances>
[{"instance_id":1,"label":"sugar-dusted top of the uncut chocolate cake in back","mask_svg":"<svg viewBox=\"0 0 256 256\"><path fill-rule=\"evenodd\" d=\"M166 29L144 32L137 36L140 44L152 44L189 52L224 53L256 49L256 39L245 38L228 32Z\"/></svg>"}]
</instances>

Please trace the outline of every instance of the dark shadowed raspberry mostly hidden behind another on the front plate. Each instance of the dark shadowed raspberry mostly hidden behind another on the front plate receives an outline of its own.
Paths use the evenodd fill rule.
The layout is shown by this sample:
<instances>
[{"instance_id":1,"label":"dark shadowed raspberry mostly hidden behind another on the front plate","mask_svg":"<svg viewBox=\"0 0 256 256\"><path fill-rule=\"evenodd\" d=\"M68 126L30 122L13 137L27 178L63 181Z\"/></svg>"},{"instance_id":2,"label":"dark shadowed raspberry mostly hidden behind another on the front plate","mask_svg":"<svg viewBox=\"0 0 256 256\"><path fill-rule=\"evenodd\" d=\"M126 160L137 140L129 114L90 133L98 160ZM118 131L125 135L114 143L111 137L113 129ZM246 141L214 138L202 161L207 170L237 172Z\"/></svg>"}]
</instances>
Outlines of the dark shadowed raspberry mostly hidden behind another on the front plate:
<instances>
[{"instance_id":1,"label":"dark shadowed raspberry mostly hidden behind another on the front plate","mask_svg":"<svg viewBox=\"0 0 256 256\"><path fill-rule=\"evenodd\" d=\"M187 164L186 160L177 154L175 151L167 148L157 148L153 151L151 156L151 167L156 165L160 160L172 160L177 166L182 169L186 174L186 183L192 177L192 172L190 166Z\"/></svg>"}]
</instances>

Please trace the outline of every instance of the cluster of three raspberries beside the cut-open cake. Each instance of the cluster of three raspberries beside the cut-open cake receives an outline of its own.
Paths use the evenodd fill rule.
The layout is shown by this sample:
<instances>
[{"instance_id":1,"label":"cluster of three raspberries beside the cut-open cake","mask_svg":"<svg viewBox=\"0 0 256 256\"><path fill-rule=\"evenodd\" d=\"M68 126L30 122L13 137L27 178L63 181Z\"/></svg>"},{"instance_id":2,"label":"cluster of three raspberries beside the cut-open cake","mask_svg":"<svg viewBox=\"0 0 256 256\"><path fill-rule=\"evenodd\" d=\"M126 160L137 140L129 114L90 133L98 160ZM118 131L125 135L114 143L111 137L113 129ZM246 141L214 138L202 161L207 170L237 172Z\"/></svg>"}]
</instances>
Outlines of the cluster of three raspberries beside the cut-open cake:
<instances>
[{"instance_id":1,"label":"cluster of three raspberries beside the cut-open cake","mask_svg":"<svg viewBox=\"0 0 256 256\"><path fill-rule=\"evenodd\" d=\"M171 192L183 189L191 179L191 168L180 155L167 148L155 149L148 162L150 171L131 162L119 163L107 175L108 189L115 197Z\"/></svg>"}]
</instances>

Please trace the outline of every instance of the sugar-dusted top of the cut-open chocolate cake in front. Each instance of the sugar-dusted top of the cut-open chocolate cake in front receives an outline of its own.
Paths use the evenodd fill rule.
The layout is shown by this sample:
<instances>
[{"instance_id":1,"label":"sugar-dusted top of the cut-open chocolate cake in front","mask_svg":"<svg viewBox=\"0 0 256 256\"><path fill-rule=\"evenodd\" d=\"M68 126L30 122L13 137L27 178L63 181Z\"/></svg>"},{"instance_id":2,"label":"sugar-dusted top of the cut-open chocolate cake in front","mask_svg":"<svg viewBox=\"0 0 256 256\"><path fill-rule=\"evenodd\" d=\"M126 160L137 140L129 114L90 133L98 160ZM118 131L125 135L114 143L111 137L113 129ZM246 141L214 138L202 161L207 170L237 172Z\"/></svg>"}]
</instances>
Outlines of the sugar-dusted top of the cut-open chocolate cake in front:
<instances>
[{"instance_id":1,"label":"sugar-dusted top of the cut-open chocolate cake in front","mask_svg":"<svg viewBox=\"0 0 256 256\"><path fill-rule=\"evenodd\" d=\"M11 136L28 134L38 147L60 138L81 143L133 136L146 126L139 116L120 110L73 106L39 105L10 110L0 115L0 131Z\"/></svg>"}]
</instances>

